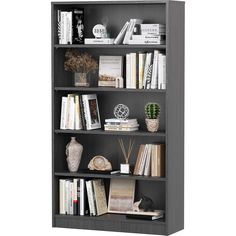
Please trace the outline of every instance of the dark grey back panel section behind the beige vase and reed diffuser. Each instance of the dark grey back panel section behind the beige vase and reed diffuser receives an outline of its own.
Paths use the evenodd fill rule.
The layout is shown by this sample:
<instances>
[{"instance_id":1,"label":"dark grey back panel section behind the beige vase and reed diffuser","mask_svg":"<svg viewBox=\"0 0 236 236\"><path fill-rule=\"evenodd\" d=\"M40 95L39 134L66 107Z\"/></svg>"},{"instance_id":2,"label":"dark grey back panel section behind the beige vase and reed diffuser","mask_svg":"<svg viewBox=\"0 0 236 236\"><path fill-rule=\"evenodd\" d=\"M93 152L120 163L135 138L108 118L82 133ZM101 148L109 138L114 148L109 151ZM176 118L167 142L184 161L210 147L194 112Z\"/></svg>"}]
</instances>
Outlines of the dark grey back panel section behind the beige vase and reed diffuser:
<instances>
[{"instance_id":1,"label":"dark grey back panel section behind the beige vase and reed diffuser","mask_svg":"<svg viewBox=\"0 0 236 236\"><path fill-rule=\"evenodd\" d=\"M155 144L164 143L165 137L125 137L125 136L107 136L107 135L55 135L55 172L67 172L67 162L65 148L70 142L71 137L76 137L76 140L83 145L83 154L79 169L87 169L89 161L96 155L106 157L112 164L112 168L117 170L120 168L120 163L124 163L123 154L118 143L118 138L122 138L125 147L128 148L130 139L135 141L133 151L130 157L130 164L133 167L136 162L140 144Z\"/></svg>"}]
</instances>

